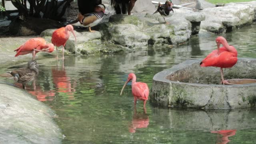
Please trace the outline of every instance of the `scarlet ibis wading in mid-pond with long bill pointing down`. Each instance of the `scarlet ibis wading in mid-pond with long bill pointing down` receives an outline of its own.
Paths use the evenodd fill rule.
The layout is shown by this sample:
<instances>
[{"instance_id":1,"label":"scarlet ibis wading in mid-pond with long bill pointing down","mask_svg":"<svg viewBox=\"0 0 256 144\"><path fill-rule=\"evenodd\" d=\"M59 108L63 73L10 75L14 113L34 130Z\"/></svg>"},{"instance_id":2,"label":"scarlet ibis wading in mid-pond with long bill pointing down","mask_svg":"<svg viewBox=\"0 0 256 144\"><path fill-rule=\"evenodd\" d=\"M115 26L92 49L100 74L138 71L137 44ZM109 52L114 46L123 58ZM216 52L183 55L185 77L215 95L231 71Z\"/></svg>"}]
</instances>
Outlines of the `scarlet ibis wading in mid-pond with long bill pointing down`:
<instances>
[{"instance_id":1,"label":"scarlet ibis wading in mid-pond with long bill pointing down","mask_svg":"<svg viewBox=\"0 0 256 144\"><path fill-rule=\"evenodd\" d=\"M143 82L136 82L136 76L133 73L130 73L128 75L128 78L121 90L120 96L122 95L124 87L127 85L127 83L130 80L132 80L132 94L134 96L134 106L136 106L137 99L139 99L144 101L144 108L145 108L146 101L148 100L148 94L149 94L148 85Z\"/></svg>"}]
</instances>

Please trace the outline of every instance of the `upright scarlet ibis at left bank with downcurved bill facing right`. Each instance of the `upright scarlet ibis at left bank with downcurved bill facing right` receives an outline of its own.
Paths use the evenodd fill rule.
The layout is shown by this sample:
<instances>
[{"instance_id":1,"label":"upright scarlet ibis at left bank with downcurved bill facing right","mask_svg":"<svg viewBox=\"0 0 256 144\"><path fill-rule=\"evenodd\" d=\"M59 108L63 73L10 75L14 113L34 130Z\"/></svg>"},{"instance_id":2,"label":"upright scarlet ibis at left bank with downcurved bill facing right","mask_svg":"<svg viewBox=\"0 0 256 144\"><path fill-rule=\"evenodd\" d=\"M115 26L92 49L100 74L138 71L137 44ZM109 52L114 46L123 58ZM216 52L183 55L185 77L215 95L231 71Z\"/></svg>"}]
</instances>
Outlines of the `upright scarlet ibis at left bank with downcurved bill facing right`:
<instances>
[{"instance_id":1,"label":"upright scarlet ibis at left bank with downcurved bill facing right","mask_svg":"<svg viewBox=\"0 0 256 144\"><path fill-rule=\"evenodd\" d=\"M59 28L52 33L52 43L54 44L54 46L56 46L57 58L58 58L58 47L63 46L62 47L62 58L64 59L64 46L66 45L66 42L70 36L70 32L72 32L72 34L74 35L74 37L76 39L76 35L74 33L74 28L70 24L67 25L66 27Z\"/></svg>"}]
</instances>

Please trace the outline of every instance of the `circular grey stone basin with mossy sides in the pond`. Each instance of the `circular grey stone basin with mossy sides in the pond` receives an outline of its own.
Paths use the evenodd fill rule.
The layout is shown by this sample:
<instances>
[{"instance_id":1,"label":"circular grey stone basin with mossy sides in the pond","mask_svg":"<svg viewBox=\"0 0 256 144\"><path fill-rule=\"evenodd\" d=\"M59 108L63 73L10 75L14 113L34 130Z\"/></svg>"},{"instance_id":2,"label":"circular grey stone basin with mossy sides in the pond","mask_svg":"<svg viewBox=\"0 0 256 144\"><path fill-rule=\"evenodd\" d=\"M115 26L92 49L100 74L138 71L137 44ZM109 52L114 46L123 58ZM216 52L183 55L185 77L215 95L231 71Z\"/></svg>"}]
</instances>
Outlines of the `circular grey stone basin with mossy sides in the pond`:
<instances>
[{"instance_id":1,"label":"circular grey stone basin with mossy sides in the pond","mask_svg":"<svg viewBox=\"0 0 256 144\"><path fill-rule=\"evenodd\" d=\"M150 101L158 106L188 108L250 108L256 104L256 83L220 84L220 68L200 67L201 60L188 60L157 73ZM256 79L256 59L238 58L224 68L224 79Z\"/></svg>"}]
</instances>

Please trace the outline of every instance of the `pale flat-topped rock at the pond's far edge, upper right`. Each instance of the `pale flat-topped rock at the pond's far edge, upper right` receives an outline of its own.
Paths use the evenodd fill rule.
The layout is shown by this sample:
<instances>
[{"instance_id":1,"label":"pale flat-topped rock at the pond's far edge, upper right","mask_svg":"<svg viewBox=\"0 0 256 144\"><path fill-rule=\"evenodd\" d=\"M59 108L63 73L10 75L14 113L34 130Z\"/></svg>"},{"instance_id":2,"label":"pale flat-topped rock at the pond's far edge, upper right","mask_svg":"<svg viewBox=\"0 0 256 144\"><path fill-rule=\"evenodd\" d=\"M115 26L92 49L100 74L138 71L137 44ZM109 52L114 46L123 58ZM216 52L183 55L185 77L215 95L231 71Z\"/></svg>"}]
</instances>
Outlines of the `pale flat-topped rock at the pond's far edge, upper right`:
<instances>
[{"instance_id":1,"label":"pale flat-topped rock at the pond's far edge, upper right","mask_svg":"<svg viewBox=\"0 0 256 144\"><path fill-rule=\"evenodd\" d=\"M222 33L233 28L251 24L255 20L255 7L248 4L230 3L216 8L206 8L201 13L206 19L201 22L201 28L214 33Z\"/></svg>"}]
</instances>

